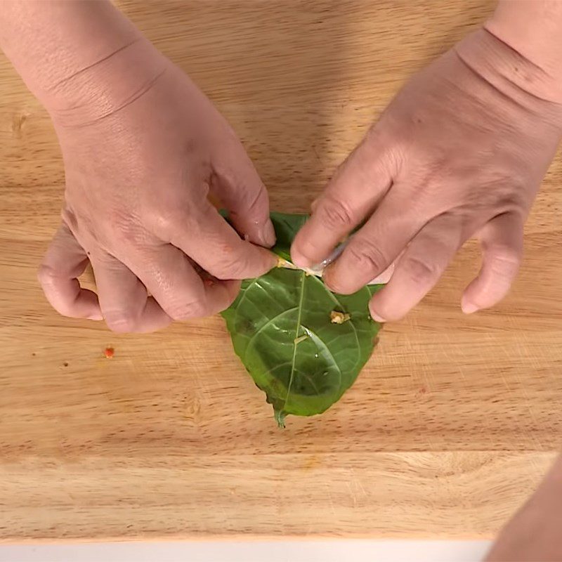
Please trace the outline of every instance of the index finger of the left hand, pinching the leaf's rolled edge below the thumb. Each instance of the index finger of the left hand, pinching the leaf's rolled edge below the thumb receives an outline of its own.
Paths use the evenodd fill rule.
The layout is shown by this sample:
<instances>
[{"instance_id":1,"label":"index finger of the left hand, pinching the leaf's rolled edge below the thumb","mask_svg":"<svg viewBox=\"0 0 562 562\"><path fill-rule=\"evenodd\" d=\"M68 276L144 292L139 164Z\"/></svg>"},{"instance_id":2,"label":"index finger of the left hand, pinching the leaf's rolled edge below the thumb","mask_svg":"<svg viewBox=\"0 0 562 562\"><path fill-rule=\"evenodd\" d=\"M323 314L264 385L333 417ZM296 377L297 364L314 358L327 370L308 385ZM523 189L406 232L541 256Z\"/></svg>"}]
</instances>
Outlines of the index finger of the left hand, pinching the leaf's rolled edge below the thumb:
<instances>
[{"instance_id":1,"label":"index finger of the left hand, pinching the leaf's rolled edge below the thumb","mask_svg":"<svg viewBox=\"0 0 562 562\"><path fill-rule=\"evenodd\" d=\"M209 202L202 203L196 220L192 228L176 223L167 235L171 244L211 275L222 280L249 279L275 267L277 259L270 251L242 240Z\"/></svg>"}]
</instances>

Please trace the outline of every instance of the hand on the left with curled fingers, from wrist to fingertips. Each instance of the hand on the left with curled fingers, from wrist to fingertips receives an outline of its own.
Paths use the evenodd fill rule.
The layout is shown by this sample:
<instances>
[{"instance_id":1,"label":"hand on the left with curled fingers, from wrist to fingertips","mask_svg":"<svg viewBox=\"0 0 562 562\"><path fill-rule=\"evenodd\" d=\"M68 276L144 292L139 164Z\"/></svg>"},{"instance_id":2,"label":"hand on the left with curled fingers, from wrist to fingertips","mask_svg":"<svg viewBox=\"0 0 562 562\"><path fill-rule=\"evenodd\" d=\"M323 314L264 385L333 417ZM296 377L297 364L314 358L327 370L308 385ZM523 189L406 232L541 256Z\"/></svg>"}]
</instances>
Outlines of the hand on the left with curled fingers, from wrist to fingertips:
<instances>
[{"instance_id":1,"label":"hand on the left with curled fingers, from wrist to fingertips","mask_svg":"<svg viewBox=\"0 0 562 562\"><path fill-rule=\"evenodd\" d=\"M65 162L65 207L39 270L59 313L103 318L115 332L221 311L235 299L235 280L275 266L260 247L275 242L268 195L235 133L181 70L150 48L143 53L144 44L129 50L136 48L132 58L125 49L72 79L84 102L51 111ZM152 59L139 84L145 57ZM58 87L74 87L72 80ZM77 280L88 261L97 295Z\"/></svg>"}]
</instances>

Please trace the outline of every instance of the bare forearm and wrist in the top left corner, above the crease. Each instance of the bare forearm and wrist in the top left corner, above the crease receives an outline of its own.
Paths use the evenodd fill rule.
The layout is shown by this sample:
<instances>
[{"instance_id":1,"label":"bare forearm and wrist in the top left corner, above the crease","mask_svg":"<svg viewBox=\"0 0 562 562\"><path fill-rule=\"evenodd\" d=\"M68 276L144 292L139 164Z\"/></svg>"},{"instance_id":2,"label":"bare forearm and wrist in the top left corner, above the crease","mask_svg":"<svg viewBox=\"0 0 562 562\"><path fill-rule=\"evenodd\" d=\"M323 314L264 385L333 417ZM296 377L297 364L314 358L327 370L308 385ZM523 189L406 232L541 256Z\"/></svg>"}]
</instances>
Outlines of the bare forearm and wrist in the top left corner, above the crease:
<instances>
[{"instance_id":1,"label":"bare forearm and wrist in the top left corner, above the crease","mask_svg":"<svg viewBox=\"0 0 562 562\"><path fill-rule=\"evenodd\" d=\"M53 119L71 124L119 110L169 64L107 0L4 0L0 46Z\"/></svg>"}]
</instances>

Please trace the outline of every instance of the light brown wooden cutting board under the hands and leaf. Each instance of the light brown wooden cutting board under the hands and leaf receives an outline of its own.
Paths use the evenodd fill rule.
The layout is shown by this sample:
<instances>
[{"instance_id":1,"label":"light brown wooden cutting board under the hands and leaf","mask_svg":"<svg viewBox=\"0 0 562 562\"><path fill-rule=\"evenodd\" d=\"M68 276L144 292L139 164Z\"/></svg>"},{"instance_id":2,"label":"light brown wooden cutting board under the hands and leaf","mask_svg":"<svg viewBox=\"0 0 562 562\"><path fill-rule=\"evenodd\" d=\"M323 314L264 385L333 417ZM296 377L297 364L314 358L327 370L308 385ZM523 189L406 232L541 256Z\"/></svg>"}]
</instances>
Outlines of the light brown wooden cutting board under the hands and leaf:
<instances>
[{"instance_id":1,"label":"light brown wooden cutting board under the hands and leaf","mask_svg":"<svg viewBox=\"0 0 562 562\"><path fill-rule=\"evenodd\" d=\"M308 209L407 77L492 11L487 0L120 6L230 119L281 211ZM504 303L460 312L478 269L467 244L384 329L341 402L285 431L221 318L118 336L51 310L35 271L63 163L4 58L0 162L0 540L490 537L558 449L561 159Z\"/></svg>"}]
</instances>

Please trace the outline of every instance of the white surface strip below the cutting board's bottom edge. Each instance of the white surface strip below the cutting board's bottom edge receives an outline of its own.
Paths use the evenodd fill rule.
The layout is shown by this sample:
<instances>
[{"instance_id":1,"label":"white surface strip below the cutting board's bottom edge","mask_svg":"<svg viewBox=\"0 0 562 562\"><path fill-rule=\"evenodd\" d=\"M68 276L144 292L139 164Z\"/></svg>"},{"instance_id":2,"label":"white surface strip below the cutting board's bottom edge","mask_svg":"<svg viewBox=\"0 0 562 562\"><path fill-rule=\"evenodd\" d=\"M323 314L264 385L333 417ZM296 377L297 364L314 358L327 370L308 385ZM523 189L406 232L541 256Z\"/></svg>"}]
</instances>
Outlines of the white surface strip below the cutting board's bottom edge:
<instances>
[{"instance_id":1,"label":"white surface strip below the cutting board's bottom edge","mask_svg":"<svg viewBox=\"0 0 562 562\"><path fill-rule=\"evenodd\" d=\"M477 562L488 541L115 542L0 546L0 562Z\"/></svg>"}]
</instances>

